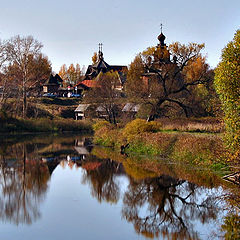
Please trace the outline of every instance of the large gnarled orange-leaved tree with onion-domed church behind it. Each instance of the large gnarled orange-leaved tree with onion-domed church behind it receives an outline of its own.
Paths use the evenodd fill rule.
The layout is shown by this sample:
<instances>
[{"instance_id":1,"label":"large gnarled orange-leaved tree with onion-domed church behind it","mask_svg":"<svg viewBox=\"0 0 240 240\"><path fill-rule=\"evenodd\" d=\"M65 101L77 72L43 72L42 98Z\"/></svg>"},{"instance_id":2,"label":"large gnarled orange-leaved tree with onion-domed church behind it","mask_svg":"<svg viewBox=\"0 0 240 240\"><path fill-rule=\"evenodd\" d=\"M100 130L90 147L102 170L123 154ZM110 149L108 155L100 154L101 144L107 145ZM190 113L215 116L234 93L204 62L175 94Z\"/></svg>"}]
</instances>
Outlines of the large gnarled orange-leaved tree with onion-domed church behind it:
<instances>
[{"instance_id":1,"label":"large gnarled orange-leaved tree with onion-domed church behind it","mask_svg":"<svg viewBox=\"0 0 240 240\"><path fill-rule=\"evenodd\" d=\"M167 47L162 33L158 39L157 47L139 53L130 65L127 78L130 101L148 106L150 120L173 108L180 108L189 116L193 89L212 78L201 55L204 44L175 42Z\"/></svg>"}]
</instances>

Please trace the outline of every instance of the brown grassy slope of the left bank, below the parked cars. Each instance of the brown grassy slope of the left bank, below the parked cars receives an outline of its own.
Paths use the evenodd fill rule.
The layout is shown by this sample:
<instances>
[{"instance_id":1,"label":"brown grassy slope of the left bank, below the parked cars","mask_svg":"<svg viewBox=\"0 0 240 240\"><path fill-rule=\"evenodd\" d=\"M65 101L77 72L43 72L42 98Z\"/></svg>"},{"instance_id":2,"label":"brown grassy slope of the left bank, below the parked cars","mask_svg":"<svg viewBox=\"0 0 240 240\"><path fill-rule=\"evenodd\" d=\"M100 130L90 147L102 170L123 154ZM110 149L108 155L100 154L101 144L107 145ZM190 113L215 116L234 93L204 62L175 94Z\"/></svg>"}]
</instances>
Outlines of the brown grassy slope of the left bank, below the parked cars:
<instances>
[{"instance_id":1,"label":"brown grassy slope of the left bank, below the parked cars","mask_svg":"<svg viewBox=\"0 0 240 240\"><path fill-rule=\"evenodd\" d=\"M74 110L79 99L42 98L29 101L29 116L37 113L37 118L27 120L0 114L0 132L91 132L91 123L74 121Z\"/></svg>"}]
</instances>

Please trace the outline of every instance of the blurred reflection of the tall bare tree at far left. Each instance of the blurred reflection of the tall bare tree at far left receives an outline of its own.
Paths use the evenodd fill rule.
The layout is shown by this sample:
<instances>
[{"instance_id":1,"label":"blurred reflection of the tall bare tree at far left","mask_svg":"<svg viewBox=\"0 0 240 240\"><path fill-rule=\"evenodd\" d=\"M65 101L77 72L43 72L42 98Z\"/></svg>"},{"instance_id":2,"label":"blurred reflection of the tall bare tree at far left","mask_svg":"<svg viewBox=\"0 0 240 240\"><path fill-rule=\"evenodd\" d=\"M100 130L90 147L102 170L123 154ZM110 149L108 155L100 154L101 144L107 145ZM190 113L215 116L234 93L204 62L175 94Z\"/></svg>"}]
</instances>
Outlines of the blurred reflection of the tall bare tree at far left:
<instances>
[{"instance_id":1,"label":"blurred reflection of the tall bare tree at far left","mask_svg":"<svg viewBox=\"0 0 240 240\"><path fill-rule=\"evenodd\" d=\"M4 221L31 224L40 217L38 208L47 190L49 172L37 152L28 154L31 147L14 145L11 159L0 156L0 217Z\"/></svg>"}]
</instances>

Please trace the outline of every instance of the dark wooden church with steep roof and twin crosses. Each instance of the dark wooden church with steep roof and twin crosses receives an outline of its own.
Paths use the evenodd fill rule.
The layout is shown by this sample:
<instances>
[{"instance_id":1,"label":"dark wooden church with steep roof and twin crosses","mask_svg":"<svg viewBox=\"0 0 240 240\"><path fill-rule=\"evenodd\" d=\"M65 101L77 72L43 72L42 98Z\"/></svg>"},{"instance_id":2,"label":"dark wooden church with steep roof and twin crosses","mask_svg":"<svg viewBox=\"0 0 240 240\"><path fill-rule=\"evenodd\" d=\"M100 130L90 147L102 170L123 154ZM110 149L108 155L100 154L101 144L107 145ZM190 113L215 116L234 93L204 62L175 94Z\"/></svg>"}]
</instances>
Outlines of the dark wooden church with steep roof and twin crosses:
<instances>
[{"instance_id":1,"label":"dark wooden church with steep roof and twin crosses","mask_svg":"<svg viewBox=\"0 0 240 240\"><path fill-rule=\"evenodd\" d=\"M80 89L89 89L97 87L97 80L100 73L117 72L119 76L119 84L116 87L117 90L122 90L126 81L127 66L122 65L109 65L105 62L102 52L102 44L99 44L98 58L95 63L89 65L83 81L79 82L76 87Z\"/></svg>"}]
</instances>

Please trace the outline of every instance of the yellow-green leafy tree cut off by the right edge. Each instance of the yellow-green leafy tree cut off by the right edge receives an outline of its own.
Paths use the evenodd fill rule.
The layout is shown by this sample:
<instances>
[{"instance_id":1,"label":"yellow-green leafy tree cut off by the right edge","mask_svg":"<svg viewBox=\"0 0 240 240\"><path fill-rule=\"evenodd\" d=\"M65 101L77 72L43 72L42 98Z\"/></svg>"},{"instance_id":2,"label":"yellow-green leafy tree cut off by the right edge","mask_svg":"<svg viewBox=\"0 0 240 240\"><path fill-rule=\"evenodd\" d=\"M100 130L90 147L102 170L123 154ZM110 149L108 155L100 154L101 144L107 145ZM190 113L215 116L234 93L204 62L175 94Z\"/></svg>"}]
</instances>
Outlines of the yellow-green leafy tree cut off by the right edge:
<instances>
[{"instance_id":1,"label":"yellow-green leafy tree cut off by the right edge","mask_svg":"<svg viewBox=\"0 0 240 240\"><path fill-rule=\"evenodd\" d=\"M240 30L223 49L214 82L224 111L227 144L240 160Z\"/></svg>"}]
</instances>

